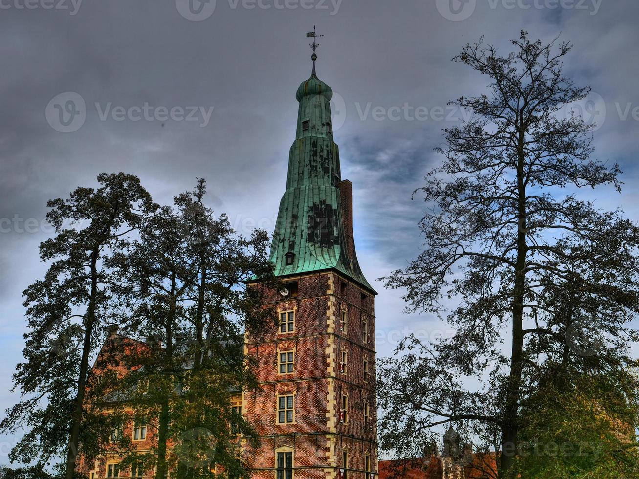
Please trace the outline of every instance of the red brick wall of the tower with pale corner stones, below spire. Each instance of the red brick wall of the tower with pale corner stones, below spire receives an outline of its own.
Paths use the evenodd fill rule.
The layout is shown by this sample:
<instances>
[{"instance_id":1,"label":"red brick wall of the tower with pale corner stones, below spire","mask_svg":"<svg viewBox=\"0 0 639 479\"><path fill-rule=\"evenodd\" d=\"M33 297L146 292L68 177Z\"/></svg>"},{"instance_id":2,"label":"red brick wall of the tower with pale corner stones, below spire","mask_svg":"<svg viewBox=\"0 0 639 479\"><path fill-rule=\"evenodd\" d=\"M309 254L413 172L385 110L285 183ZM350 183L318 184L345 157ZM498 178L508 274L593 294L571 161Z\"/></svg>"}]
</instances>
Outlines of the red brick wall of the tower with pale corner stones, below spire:
<instances>
[{"instance_id":1,"label":"red brick wall of the tower with pale corner stones, below spire","mask_svg":"<svg viewBox=\"0 0 639 479\"><path fill-rule=\"evenodd\" d=\"M335 478L342 468L342 450L349 452L349 476L365 478L365 455L377 471L376 411L374 397L373 296L336 273L315 273L296 278L296 298L267 293L265 303L279 311L295 310L295 332L279 333L273 326L259 339L247 338L246 353L256 358L260 392L244 398L247 420L256 425L261 447L250 452L254 477L275 477L275 450L295 450L295 478ZM348 312L346 332L339 331L341 310ZM366 317L368 342L362 341ZM348 353L346 374L339 372L341 350ZM281 375L279 351L295 351L295 373ZM330 354L330 351L333 354ZM363 358L369 360L369 381L364 383ZM339 422L342 394L348 395L348 421ZM295 396L295 422L277 422L277 396ZM364 402L369 401L371 422L364 426Z\"/></svg>"}]
</instances>

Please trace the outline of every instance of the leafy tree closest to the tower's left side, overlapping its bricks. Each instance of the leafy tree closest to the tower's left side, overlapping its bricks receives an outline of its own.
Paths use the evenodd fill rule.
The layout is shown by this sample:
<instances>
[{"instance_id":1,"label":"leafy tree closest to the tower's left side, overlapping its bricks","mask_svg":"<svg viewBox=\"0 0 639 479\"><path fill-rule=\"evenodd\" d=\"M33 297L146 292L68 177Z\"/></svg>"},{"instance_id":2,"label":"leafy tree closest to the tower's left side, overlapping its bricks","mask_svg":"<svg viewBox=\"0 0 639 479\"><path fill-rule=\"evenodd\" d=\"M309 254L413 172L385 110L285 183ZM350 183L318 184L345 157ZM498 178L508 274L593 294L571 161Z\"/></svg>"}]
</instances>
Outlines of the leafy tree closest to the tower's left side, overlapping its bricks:
<instances>
[{"instance_id":1,"label":"leafy tree closest to the tower's left side, overlapping its bricks","mask_svg":"<svg viewBox=\"0 0 639 479\"><path fill-rule=\"evenodd\" d=\"M208 462L222 466L230 475L246 475L247 464L237 448L238 435L254 446L257 437L242 414L231 407L229 390L258 388L252 371L255 364L243 355L243 338L246 333L259 337L277 317L272 307L263 307L262 298L264 288L281 287L268 261L268 234L263 230L252 232L250 238L236 234L226 215L215 218L204 205L205 194L206 182L199 179L193 192L176 198L190 261L197 270L187 315L187 354L193 367L180 420L176 421L190 444L188 457L182 454L176 458L180 459L178 479L210 475L209 464L196 460L203 450L212 456ZM246 282L255 277L260 278L261 288L247 287ZM213 448L207 445L207 437L215 438Z\"/></svg>"}]
</instances>

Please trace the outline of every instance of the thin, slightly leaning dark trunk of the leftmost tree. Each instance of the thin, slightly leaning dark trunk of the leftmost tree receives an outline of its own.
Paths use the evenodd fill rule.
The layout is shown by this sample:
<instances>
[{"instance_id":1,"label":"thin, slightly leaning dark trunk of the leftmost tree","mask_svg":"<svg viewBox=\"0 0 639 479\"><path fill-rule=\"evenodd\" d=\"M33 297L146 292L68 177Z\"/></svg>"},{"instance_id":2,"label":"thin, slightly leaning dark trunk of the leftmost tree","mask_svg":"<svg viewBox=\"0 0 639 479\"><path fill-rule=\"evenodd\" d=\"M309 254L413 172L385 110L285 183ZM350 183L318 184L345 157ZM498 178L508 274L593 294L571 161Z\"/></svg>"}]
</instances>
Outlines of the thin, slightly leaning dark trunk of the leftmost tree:
<instances>
[{"instance_id":1,"label":"thin, slightly leaning dark trunk of the leftmost tree","mask_svg":"<svg viewBox=\"0 0 639 479\"><path fill-rule=\"evenodd\" d=\"M71 423L71 433L69 435L69 445L66 452L65 479L73 479L75 473L75 460L78 455L78 443L80 439L80 425L82 423L82 411L84 409L84 388L86 388L86 376L89 371L89 354L91 353L91 335L93 334L93 324L95 324L95 301L98 293L98 248L93 248L91 252L91 295L87 308L86 321L84 324L84 342L82 343L82 360L80 362L80 375L78 378L78 389L75 397L75 408Z\"/></svg>"}]
</instances>

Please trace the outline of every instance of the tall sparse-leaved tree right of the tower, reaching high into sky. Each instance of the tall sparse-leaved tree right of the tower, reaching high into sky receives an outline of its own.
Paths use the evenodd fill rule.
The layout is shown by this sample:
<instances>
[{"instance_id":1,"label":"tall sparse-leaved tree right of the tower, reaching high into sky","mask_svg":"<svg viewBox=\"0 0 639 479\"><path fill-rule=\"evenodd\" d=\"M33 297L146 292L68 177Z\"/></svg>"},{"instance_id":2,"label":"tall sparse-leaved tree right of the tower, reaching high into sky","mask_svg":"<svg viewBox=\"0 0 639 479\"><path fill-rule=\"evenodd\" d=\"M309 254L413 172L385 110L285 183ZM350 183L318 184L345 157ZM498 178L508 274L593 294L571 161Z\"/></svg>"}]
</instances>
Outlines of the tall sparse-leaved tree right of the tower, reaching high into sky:
<instances>
[{"instance_id":1,"label":"tall sparse-leaved tree right of the tower, reaching high into sky","mask_svg":"<svg viewBox=\"0 0 639 479\"><path fill-rule=\"evenodd\" d=\"M636 338L626 324L639 309L639 232L621 211L574 194L619 190L620 169L590 159L594 125L560 114L589 88L564 76L571 45L556 42L522 32L507 56L479 40L454 58L488 75L489 94L452 102L473 116L444 130L443 165L419 190L430 209L419 224L424 251L385 279L406 288L409 310L442 317L443 300L458 302L447 316L456 333L433 344L407 338L398 351L407 354L381 365L381 443L396 440L398 453L412 450L408 438L430 440L432 427L457 422L499 450L500 475L511 477L521 403L552 348L562 345L564 367L579 364L575 338L597 335L607 353L621 349L596 354L592 367L619 370ZM471 378L476 388L466 387Z\"/></svg>"}]
</instances>

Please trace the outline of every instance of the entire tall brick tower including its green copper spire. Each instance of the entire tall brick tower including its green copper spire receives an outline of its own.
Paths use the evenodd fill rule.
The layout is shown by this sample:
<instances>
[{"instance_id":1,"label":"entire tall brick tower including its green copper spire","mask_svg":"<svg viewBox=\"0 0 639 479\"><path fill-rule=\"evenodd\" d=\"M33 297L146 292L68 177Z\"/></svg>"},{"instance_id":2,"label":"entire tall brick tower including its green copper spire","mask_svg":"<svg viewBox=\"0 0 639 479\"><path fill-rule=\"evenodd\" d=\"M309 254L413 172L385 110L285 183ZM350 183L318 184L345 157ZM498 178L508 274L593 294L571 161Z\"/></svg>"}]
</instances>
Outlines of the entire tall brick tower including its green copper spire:
<instances>
[{"instance_id":1,"label":"entire tall brick tower including its green copper spire","mask_svg":"<svg viewBox=\"0 0 639 479\"><path fill-rule=\"evenodd\" d=\"M261 439L256 479L373 479L378 471L374 296L353 241L352 185L333 141L332 90L300 84L296 139L273 234L271 261L286 284L268 294L279 326L245 353L260 392L242 409Z\"/></svg>"}]
</instances>

